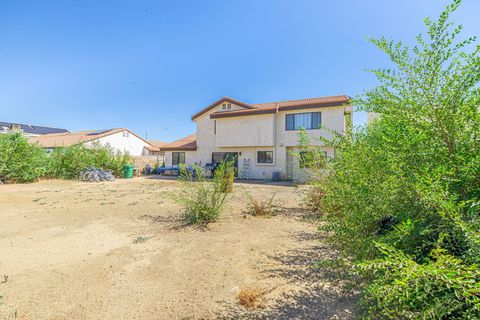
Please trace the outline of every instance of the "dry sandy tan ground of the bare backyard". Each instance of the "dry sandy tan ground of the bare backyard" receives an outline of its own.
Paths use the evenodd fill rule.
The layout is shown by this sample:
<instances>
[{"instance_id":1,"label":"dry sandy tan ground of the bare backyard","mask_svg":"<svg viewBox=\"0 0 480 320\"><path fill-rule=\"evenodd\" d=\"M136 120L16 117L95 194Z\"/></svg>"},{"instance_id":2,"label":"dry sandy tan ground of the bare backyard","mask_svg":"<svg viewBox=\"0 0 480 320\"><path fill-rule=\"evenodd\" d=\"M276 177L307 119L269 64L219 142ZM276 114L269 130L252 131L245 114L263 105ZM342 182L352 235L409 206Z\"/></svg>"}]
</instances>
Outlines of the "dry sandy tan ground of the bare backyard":
<instances>
[{"instance_id":1,"label":"dry sandy tan ground of the bare backyard","mask_svg":"<svg viewBox=\"0 0 480 320\"><path fill-rule=\"evenodd\" d=\"M0 318L347 319L343 297L311 266L331 254L285 185L236 183L219 222L184 226L173 180L0 186ZM283 211L246 216L246 192ZM266 290L263 307L238 303Z\"/></svg>"}]
</instances>

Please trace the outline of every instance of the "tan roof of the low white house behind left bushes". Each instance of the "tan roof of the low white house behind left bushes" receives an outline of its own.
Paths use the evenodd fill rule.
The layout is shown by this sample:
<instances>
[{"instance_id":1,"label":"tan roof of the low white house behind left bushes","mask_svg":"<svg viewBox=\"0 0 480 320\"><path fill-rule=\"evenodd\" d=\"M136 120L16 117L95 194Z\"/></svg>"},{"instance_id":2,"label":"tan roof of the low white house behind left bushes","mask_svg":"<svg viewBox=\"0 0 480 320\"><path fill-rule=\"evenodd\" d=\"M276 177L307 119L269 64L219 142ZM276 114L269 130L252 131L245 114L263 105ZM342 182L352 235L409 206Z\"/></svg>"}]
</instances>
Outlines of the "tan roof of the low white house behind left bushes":
<instances>
[{"instance_id":1,"label":"tan roof of the low white house behind left bushes","mask_svg":"<svg viewBox=\"0 0 480 320\"><path fill-rule=\"evenodd\" d=\"M151 146L142 137L133 133L132 131L126 128L115 128L115 129L102 129L102 130L86 130L72 133L58 133L58 134L46 134L43 136L30 137L30 142L38 143L44 148L55 148L55 147L68 147L79 143L85 143L88 141L97 140L103 137L110 136L115 133L122 131L128 131L130 134L136 136L137 138L143 140L148 146Z\"/></svg>"}]
</instances>

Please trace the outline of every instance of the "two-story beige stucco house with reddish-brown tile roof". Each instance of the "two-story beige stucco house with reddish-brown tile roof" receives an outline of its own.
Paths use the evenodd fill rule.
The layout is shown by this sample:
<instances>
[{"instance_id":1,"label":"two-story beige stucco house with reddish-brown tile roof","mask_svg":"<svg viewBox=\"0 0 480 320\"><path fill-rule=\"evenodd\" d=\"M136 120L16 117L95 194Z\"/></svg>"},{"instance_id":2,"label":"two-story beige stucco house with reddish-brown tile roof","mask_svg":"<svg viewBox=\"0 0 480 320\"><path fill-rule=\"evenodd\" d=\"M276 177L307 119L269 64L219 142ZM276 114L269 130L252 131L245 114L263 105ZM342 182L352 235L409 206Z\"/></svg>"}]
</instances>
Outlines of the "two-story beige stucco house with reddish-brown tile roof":
<instances>
[{"instance_id":1,"label":"two-story beige stucco house with reddish-brown tile roof","mask_svg":"<svg viewBox=\"0 0 480 320\"><path fill-rule=\"evenodd\" d=\"M305 128L309 137L332 138L331 131L343 134L352 107L345 95L262 104L248 104L224 97L192 116L196 135L160 147L165 163L218 163L236 159L240 177L250 179L303 180L298 158L298 133ZM182 145L181 141L188 142ZM320 146L329 157L334 149ZM249 164L244 164L249 163ZM244 171L242 173L242 171Z\"/></svg>"}]
</instances>

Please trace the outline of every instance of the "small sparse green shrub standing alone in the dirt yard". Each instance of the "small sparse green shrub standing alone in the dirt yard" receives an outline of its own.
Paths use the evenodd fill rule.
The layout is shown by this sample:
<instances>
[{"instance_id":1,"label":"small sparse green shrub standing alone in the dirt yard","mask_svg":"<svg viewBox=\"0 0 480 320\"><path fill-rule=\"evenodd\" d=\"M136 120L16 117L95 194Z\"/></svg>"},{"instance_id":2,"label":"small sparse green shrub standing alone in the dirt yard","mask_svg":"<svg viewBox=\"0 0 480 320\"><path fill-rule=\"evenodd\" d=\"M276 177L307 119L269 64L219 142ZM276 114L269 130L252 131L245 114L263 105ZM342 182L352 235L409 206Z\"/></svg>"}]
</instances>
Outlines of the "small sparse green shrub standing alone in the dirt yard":
<instances>
[{"instance_id":1,"label":"small sparse green shrub standing alone in the dirt yard","mask_svg":"<svg viewBox=\"0 0 480 320\"><path fill-rule=\"evenodd\" d=\"M192 224L206 225L218 220L227 197L225 176L233 167L230 162L222 163L215 170L212 180L205 178L204 171L193 166L189 170L185 165L180 168L182 188L173 194L174 200L183 206L185 218Z\"/></svg>"}]
</instances>

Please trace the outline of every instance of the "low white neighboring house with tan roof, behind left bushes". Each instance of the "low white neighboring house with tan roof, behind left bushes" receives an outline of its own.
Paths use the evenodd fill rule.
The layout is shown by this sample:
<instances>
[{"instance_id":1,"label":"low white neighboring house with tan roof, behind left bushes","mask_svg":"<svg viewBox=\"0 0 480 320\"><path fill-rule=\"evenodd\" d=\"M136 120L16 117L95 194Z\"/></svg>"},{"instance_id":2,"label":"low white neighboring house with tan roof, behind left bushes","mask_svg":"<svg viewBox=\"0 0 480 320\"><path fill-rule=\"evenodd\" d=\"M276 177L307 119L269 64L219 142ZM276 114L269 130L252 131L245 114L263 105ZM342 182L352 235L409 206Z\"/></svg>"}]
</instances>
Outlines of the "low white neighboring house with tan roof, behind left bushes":
<instances>
[{"instance_id":1,"label":"low white neighboring house with tan roof, behind left bushes","mask_svg":"<svg viewBox=\"0 0 480 320\"><path fill-rule=\"evenodd\" d=\"M47 134L31 137L29 140L48 150L76 144L92 146L94 143L99 143L103 146L108 145L116 151L128 152L131 156L145 156L160 151L158 147L125 128Z\"/></svg>"}]
</instances>

